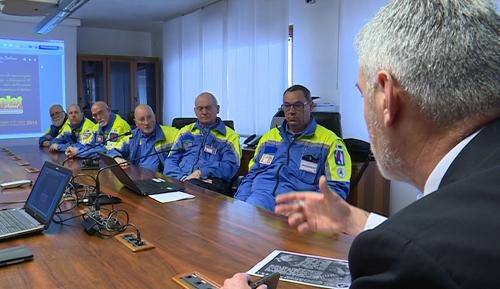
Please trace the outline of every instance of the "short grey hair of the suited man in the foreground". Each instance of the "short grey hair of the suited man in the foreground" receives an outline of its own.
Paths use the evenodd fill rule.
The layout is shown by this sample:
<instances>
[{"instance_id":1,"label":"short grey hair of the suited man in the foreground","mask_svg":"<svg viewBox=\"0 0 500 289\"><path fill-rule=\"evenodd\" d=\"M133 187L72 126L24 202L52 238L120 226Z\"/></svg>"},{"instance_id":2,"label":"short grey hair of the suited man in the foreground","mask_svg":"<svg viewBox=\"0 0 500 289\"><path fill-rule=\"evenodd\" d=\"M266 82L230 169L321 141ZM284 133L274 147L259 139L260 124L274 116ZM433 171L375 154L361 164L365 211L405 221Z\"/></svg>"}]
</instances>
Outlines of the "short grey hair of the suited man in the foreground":
<instances>
[{"instance_id":1,"label":"short grey hair of the suited man in the foreground","mask_svg":"<svg viewBox=\"0 0 500 289\"><path fill-rule=\"evenodd\" d=\"M500 17L488 0L393 0L359 33L370 96L387 70L430 120L500 111Z\"/></svg>"}]
</instances>

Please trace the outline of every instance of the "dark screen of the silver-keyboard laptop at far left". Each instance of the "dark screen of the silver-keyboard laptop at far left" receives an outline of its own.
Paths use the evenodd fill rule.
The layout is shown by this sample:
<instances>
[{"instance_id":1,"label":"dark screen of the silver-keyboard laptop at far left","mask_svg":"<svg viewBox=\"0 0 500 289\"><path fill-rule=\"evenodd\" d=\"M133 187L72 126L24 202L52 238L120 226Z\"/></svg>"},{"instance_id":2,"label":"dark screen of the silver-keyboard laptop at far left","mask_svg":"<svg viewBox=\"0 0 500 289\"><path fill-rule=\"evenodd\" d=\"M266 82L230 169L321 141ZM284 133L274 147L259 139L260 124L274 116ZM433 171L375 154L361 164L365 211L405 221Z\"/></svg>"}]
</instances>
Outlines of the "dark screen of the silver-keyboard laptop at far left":
<instances>
[{"instance_id":1,"label":"dark screen of the silver-keyboard laptop at far left","mask_svg":"<svg viewBox=\"0 0 500 289\"><path fill-rule=\"evenodd\" d=\"M40 223L48 225L72 175L67 168L45 162L24 209Z\"/></svg>"}]
</instances>

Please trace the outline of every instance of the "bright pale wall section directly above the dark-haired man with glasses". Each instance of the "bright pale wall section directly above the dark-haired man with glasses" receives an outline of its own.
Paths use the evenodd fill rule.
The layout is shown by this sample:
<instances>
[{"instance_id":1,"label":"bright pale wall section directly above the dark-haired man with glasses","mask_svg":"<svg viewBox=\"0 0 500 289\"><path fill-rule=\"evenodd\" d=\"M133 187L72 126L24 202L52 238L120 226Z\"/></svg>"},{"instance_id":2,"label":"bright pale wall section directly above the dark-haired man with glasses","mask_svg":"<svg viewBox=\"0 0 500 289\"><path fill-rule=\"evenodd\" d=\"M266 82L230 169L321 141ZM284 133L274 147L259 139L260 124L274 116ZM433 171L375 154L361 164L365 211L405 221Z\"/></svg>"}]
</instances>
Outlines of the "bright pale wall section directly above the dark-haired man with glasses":
<instances>
[{"instance_id":1,"label":"bright pale wall section directly above the dark-haired man with glasses","mask_svg":"<svg viewBox=\"0 0 500 289\"><path fill-rule=\"evenodd\" d=\"M339 103L337 58L340 0L289 0L293 35L293 83L305 85L322 103Z\"/></svg>"}]
</instances>

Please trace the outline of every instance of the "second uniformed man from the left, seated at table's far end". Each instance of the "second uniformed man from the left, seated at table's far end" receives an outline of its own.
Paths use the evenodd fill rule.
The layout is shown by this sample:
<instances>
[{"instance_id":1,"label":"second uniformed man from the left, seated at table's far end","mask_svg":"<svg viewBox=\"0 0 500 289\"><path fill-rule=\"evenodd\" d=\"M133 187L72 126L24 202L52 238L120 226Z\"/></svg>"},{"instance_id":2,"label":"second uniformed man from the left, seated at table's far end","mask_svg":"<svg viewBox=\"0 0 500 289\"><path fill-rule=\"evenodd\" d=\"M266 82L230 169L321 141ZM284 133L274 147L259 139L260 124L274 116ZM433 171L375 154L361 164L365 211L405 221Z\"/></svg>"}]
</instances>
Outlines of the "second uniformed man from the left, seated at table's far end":
<instances>
[{"instance_id":1,"label":"second uniformed man from the left, seated at table's far end","mask_svg":"<svg viewBox=\"0 0 500 289\"><path fill-rule=\"evenodd\" d=\"M65 151L70 145L81 142L92 135L94 122L83 116L82 110L76 104L68 107L69 125L63 126L59 135L52 140L50 151Z\"/></svg>"}]
</instances>

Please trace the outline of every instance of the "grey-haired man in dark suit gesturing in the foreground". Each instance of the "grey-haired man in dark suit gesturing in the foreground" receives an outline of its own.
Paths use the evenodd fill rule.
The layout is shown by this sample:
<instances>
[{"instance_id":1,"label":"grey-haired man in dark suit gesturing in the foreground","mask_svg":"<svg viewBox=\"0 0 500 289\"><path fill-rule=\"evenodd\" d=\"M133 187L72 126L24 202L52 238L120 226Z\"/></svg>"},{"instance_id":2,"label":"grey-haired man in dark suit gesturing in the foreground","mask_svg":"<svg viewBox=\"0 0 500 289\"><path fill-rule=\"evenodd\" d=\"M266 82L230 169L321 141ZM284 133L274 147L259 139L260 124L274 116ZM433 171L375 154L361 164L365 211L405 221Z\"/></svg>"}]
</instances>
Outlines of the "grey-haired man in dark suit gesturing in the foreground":
<instances>
[{"instance_id":1,"label":"grey-haired man in dark suit gesturing in the foreground","mask_svg":"<svg viewBox=\"0 0 500 289\"><path fill-rule=\"evenodd\" d=\"M500 288L500 18L491 1L394 0L358 36L383 175L422 196L372 230L328 188L277 197L301 232L357 235L351 288ZM358 235L359 234L359 235ZM248 288L237 274L224 288Z\"/></svg>"}]
</instances>

